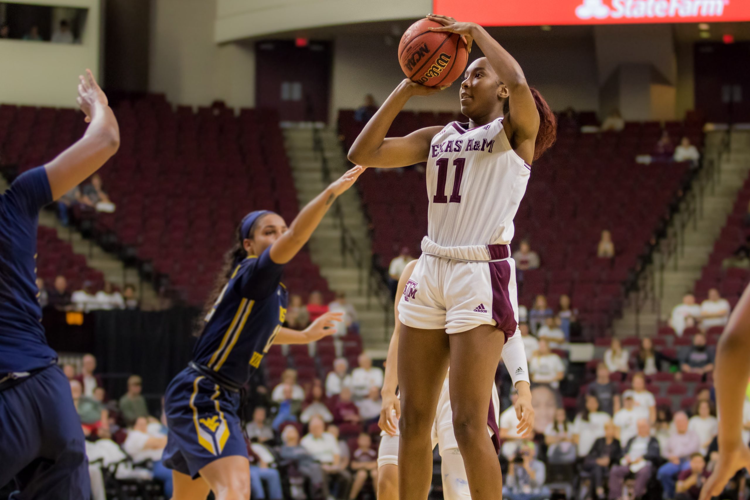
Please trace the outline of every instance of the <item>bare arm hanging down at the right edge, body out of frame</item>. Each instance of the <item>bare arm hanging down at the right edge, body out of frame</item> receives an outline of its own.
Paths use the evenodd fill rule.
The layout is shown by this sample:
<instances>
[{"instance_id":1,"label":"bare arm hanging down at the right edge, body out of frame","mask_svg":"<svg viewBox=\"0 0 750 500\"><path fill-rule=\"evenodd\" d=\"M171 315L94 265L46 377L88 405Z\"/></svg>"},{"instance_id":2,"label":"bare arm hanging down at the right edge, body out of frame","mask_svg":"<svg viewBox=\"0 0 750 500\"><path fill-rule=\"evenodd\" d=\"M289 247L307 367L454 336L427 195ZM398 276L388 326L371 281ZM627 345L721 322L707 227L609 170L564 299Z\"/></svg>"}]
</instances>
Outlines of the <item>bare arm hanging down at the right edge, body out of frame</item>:
<instances>
[{"instance_id":1,"label":"bare arm hanging down at the right edge, body out of frame","mask_svg":"<svg viewBox=\"0 0 750 500\"><path fill-rule=\"evenodd\" d=\"M700 490L700 500L718 496L735 473L750 470L750 450L742 442L742 409L750 378L750 286L742 293L729 318L716 349L716 403L718 422L718 463Z\"/></svg>"}]
</instances>

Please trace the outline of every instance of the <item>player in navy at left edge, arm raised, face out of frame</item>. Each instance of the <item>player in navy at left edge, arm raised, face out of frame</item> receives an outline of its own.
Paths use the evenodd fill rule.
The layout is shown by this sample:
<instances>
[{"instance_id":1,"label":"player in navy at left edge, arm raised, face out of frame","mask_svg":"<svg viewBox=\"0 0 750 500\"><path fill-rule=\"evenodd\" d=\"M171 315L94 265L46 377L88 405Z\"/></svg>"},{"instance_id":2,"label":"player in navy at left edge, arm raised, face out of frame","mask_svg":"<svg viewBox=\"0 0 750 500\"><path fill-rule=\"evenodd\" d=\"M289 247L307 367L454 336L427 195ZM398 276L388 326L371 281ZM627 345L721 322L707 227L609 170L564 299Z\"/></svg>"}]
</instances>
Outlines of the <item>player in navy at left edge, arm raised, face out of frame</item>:
<instances>
[{"instance_id":1,"label":"player in navy at left edge, arm raised, face out of frame","mask_svg":"<svg viewBox=\"0 0 750 500\"><path fill-rule=\"evenodd\" d=\"M117 152L120 132L91 71L78 105L89 128L45 166L0 195L0 487L16 499L89 499L89 469L71 386L41 325L36 279L39 210L85 181Z\"/></svg>"}]
</instances>

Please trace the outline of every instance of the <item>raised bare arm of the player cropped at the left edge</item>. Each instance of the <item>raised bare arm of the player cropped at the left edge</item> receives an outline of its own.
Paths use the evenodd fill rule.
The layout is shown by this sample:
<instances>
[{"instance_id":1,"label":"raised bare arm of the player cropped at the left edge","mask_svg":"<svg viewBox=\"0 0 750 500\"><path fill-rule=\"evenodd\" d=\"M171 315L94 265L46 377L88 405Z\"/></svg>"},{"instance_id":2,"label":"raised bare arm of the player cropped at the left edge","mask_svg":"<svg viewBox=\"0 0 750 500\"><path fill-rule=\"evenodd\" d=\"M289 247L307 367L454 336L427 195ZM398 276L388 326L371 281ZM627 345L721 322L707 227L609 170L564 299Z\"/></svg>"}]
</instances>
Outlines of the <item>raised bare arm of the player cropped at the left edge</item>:
<instances>
[{"instance_id":1,"label":"raised bare arm of the player cropped at the left edge","mask_svg":"<svg viewBox=\"0 0 750 500\"><path fill-rule=\"evenodd\" d=\"M120 129L107 96L91 70L79 76L78 106L86 114L89 128L70 148L47 163L46 174L52 198L58 199L101 168L120 147Z\"/></svg>"}]
</instances>

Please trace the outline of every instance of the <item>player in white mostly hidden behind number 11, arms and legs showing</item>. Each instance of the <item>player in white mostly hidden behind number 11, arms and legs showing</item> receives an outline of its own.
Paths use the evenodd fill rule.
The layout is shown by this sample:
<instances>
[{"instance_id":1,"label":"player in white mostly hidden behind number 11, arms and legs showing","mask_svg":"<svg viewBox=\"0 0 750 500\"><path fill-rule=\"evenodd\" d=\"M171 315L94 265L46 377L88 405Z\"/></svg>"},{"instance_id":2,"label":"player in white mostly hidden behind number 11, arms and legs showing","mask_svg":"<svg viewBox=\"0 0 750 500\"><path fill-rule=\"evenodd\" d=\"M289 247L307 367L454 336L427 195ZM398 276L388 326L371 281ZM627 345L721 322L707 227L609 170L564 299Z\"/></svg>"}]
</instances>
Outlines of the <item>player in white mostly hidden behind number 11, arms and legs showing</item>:
<instances>
[{"instance_id":1,"label":"player in white mostly hidden behind number 11, arms and legs showing","mask_svg":"<svg viewBox=\"0 0 750 500\"><path fill-rule=\"evenodd\" d=\"M407 281L410 279L417 261L413 260L398 281L398 290L404 290ZM388 358L386 360L386 376L383 383L383 409L380 411L380 428L383 432L380 434L380 447L378 448L378 500L399 500L398 496L398 415L400 413L399 400L396 395L398 386L398 377L396 375L398 366L398 338L400 333L401 322L398 321L398 298L395 303L396 326L391 337L391 343L388 348ZM523 340L520 332L514 334L505 347L502 349L502 361L505 367L511 373L513 385L517 388L520 397L520 403L516 403L516 412L519 417L517 427L520 435L532 435L534 429L534 411L530 404L523 406L523 401L530 402L529 393L529 368L526 362L526 352L523 349ZM499 451L499 395L497 388L492 385L492 396L490 411L487 415L487 429L493 439L493 445ZM453 412L451 410L451 401L449 397L449 379L446 377L443 382L443 389L440 391L440 400L437 404L437 413L432 427L432 446L438 446L441 461L441 472L443 478L443 498L446 500L468 500L469 485L466 480L466 469L463 467L463 457L461 457L456 442L455 433L453 432Z\"/></svg>"}]
</instances>

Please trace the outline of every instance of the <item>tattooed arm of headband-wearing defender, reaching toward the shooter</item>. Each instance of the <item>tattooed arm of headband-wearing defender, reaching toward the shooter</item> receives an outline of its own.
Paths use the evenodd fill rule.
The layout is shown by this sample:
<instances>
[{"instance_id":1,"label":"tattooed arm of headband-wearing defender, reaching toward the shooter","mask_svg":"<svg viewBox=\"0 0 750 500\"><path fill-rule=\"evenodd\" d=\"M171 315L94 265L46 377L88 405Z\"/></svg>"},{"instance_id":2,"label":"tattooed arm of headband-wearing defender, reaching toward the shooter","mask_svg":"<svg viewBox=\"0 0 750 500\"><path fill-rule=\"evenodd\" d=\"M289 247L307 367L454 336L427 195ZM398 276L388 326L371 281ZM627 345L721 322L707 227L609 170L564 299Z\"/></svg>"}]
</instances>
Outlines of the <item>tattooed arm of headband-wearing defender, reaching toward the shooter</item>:
<instances>
[{"instance_id":1,"label":"tattooed arm of headband-wearing defender, reaching toward the shooter","mask_svg":"<svg viewBox=\"0 0 750 500\"><path fill-rule=\"evenodd\" d=\"M362 172L365 172L364 167L355 166L329 187L326 187L323 193L316 196L308 205L305 205L305 208L302 208L302 211L295 217L287 232L281 235L272 245L271 260L277 264L286 264L292 260L297 252L307 244L336 198L352 187Z\"/></svg>"}]
</instances>

